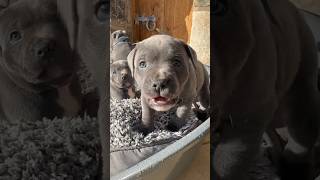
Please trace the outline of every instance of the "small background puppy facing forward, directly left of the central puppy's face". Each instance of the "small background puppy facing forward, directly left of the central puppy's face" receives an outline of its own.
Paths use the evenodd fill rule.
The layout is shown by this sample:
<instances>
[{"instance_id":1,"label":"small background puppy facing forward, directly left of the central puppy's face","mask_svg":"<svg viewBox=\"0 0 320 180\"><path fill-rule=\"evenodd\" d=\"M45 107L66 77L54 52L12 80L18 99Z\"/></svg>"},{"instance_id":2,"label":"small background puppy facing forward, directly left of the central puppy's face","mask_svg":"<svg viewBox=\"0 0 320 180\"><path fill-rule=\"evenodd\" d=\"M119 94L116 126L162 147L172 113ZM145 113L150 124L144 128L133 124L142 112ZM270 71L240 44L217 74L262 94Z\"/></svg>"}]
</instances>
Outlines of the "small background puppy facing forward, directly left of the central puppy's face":
<instances>
[{"instance_id":1,"label":"small background puppy facing forward, directly left of the central puppy's face","mask_svg":"<svg viewBox=\"0 0 320 180\"><path fill-rule=\"evenodd\" d=\"M134 79L131 76L127 60L118 60L110 64L110 96L121 100L134 98Z\"/></svg>"}]
</instances>

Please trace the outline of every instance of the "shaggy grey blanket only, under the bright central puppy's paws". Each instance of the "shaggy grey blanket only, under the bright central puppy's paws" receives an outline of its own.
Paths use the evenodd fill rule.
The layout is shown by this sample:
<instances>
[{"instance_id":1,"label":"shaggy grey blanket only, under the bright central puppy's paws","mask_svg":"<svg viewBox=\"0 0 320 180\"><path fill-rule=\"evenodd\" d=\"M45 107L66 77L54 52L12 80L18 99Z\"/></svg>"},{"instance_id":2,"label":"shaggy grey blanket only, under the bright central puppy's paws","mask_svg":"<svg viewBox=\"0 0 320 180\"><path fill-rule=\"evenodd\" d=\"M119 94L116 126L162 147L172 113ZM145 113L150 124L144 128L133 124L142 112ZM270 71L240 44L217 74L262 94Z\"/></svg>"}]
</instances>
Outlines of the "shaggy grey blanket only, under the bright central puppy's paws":
<instances>
[{"instance_id":1,"label":"shaggy grey blanket only, under the bright central puppy's paws","mask_svg":"<svg viewBox=\"0 0 320 180\"><path fill-rule=\"evenodd\" d=\"M200 124L194 113L190 112L186 117L186 125L177 132L171 132L166 129L166 126L173 118L173 113L173 111L156 113L155 130L144 136L133 130L141 119L140 99L121 101L112 99L110 101L110 152L169 143L185 136Z\"/></svg>"}]
</instances>

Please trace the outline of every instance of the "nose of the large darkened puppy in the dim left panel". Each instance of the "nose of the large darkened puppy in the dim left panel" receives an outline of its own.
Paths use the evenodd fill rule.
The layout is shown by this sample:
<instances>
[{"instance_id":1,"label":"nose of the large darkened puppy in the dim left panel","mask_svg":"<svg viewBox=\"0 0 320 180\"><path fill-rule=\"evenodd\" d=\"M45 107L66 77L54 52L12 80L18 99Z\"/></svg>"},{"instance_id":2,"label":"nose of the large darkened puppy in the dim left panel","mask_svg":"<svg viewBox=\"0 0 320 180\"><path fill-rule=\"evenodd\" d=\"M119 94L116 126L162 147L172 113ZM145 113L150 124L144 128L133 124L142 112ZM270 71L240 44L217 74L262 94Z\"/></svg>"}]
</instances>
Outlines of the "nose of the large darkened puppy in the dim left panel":
<instances>
[{"instance_id":1,"label":"nose of the large darkened puppy in the dim left panel","mask_svg":"<svg viewBox=\"0 0 320 180\"><path fill-rule=\"evenodd\" d=\"M32 52L35 57L42 58L53 51L54 42L49 39L38 39L33 43Z\"/></svg>"}]
</instances>

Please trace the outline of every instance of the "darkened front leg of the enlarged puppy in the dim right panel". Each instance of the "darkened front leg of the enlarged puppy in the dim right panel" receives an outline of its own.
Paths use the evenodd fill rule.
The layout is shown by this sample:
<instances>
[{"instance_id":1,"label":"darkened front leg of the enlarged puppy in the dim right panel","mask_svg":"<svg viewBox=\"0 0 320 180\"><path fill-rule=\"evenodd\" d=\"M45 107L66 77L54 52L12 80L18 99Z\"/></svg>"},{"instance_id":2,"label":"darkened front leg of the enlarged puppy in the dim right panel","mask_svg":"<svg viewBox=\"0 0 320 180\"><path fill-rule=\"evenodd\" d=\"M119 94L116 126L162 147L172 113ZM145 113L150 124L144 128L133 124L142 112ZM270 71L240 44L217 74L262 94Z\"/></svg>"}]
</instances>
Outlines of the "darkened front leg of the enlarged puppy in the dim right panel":
<instances>
[{"instance_id":1,"label":"darkened front leg of the enlarged puppy in the dim right panel","mask_svg":"<svg viewBox=\"0 0 320 180\"><path fill-rule=\"evenodd\" d=\"M274 105L268 103L255 112L232 116L232 122L220 133L218 145L212 147L213 179L250 179L248 171L258 155L263 132L273 118Z\"/></svg>"}]
</instances>

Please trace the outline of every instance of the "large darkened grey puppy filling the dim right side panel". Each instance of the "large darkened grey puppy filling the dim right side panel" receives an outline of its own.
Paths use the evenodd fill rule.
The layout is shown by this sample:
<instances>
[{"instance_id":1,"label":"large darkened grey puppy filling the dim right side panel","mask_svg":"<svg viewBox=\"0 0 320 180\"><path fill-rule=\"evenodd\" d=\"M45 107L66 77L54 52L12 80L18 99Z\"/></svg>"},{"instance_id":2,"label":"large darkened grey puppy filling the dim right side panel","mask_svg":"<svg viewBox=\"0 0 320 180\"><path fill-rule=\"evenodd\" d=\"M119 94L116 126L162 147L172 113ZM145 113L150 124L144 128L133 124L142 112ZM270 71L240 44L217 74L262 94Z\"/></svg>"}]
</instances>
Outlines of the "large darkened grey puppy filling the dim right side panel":
<instances>
[{"instance_id":1,"label":"large darkened grey puppy filling the dim right side panel","mask_svg":"<svg viewBox=\"0 0 320 180\"><path fill-rule=\"evenodd\" d=\"M314 179L320 94L317 48L305 20L287 0L219 0L213 7L212 134L220 136L211 177L248 179L263 133L285 110L281 179Z\"/></svg>"}]
</instances>

